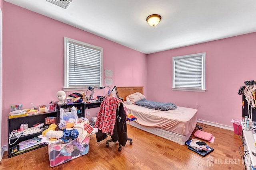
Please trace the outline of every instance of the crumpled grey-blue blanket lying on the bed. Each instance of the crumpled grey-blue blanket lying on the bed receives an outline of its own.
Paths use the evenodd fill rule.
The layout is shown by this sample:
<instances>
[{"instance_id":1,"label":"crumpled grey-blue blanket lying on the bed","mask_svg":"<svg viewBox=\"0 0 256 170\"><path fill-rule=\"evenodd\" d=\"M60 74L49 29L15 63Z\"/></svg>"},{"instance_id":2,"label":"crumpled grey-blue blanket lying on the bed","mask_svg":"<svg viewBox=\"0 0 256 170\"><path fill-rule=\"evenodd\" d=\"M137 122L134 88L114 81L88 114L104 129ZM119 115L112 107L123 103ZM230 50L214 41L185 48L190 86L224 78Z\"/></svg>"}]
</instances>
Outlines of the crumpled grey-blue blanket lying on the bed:
<instances>
[{"instance_id":1,"label":"crumpled grey-blue blanket lying on the bed","mask_svg":"<svg viewBox=\"0 0 256 170\"><path fill-rule=\"evenodd\" d=\"M177 106L173 103L154 102L146 99L142 99L137 102L134 102L134 104L142 107L147 107L149 109L157 109L157 110L177 109Z\"/></svg>"}]
</instances>

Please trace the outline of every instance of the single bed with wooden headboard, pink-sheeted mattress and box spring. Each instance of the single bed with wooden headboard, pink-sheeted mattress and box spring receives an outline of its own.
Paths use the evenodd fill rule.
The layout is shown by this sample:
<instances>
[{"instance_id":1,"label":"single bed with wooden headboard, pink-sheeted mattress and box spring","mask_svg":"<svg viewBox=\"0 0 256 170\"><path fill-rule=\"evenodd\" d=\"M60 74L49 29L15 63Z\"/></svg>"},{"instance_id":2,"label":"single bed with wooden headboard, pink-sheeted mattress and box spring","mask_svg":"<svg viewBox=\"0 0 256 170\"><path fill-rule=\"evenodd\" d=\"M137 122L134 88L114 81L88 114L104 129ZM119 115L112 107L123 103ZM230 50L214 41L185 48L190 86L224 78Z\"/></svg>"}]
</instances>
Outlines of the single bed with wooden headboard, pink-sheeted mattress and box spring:
<instances>
[{"instance_id":1,"label":"single bed with wooden headboard, pink-sheeted mattress and box spring","mask_svg":"<svg viewBox=\"0 0 256 170\"><path fill-rule=\"evenodd\" d=\"M143 94L143 87L117 87L117 91L119 97L125 101L126 96L130 94ZM162 111L135 104L125 106L128 112L137 118L129 125L180 145L185 145L196 127L197 109L177 106L177 109Z\"/></svg>"}]
</instances>

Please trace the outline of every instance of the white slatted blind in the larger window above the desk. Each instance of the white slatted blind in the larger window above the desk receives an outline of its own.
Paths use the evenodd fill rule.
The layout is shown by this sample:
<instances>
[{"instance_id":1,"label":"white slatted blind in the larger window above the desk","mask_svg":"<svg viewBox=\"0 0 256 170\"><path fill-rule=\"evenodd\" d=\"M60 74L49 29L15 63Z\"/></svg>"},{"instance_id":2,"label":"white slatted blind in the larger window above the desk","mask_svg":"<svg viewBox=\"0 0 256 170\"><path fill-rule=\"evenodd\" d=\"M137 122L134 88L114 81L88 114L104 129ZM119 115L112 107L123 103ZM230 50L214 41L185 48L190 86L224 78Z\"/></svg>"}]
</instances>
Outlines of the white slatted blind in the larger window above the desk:
<instances>
[{"instance_id":1,"label":"white slatted blind in the larger window above the desk","mask_svg":"<svg viewBox=\"0 0 256 170\"><path fill-rule=\"evenodd\" d=\"M101 51L68 42L68 87L100 86Z\"/></svg>"}]
</instances>

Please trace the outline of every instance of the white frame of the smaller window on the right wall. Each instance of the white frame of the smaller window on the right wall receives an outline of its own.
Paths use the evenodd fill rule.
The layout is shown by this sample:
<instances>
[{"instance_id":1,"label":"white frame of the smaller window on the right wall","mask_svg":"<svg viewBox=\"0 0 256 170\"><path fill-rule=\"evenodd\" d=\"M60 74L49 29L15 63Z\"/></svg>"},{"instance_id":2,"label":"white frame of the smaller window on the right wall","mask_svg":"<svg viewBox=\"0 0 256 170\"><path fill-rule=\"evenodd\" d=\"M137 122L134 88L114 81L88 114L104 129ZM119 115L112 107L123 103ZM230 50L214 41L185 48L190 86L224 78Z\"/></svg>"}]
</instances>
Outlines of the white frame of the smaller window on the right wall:
<instances>
[{"instance_id":1,"label":"white frame of the smaller window on the right wall","mask_svg":"<svg viewBox=\"0 0 256 170\"><path fill-rule=\"evenodd\" d=\"M201 57L202 58L202 69L201 69L201 89L189 88L189 87L175 87L175 61L182 59L189 59ZM191 91L191 92L205 92L206 91L206 53L197 53L192 55L183 55L172 57L172 90L180 91Z\"/></svg>"}]
</instances>

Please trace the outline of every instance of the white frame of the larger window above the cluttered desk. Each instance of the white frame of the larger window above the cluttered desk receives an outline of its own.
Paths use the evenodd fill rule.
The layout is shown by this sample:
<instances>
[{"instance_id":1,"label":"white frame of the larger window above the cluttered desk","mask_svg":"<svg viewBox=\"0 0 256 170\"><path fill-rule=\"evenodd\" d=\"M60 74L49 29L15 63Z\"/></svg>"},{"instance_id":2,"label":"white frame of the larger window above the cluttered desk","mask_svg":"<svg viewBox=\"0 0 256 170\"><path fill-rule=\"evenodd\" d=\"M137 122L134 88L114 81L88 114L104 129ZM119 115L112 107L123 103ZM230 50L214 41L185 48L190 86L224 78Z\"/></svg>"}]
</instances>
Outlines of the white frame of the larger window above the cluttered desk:
<instances>
[{"instance_id":1,"label":"white frame of the larger window above the cluttered desk","mask_svg":"<svg viewBox=\"0 0 256 170\"><path fill-rule=\"evenodd\" d=\"M84 43L82 41L78 41L75 39L70 39L68 37L64 37L64 74L63 74L63 90L64 91L76 91L76 90L86 90L88 88L88 86L92 86L94 88L98 88L98 86L94 86L93 84L88 85L88 86L84 86L84 87L69 87L69 51L68 51L68 44L69 43L74 43L80 46L84 46L88 49L93 49L93 50L98 50L100 51L100 86L102 86L102 80L103 80L103 76L102 76L102 70L103 70L103 48L102 47L98 47L95 45L91 45L88 43ZM99 87L100 87L99 86Z\"/></svg>"}]
</instances>

